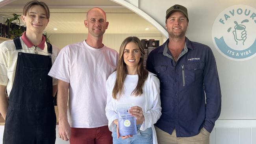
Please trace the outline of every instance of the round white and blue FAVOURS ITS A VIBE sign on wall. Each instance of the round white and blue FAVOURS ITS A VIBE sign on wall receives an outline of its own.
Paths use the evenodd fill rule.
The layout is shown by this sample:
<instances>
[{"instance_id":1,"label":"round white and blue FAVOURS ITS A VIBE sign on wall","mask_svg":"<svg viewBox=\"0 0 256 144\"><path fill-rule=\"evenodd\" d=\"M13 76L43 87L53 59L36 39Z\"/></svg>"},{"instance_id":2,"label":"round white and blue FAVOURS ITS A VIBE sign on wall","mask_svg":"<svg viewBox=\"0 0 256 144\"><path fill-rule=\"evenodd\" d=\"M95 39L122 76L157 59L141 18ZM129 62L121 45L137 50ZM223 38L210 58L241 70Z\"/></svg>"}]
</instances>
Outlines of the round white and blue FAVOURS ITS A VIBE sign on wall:
<instances>
[{"instance_id":1,"label":"round white and blue FAVOURS ITS A VIBE sign on wall","mask_svg":"<svg viewBox=\"0 0 256 144\"><path fill-rule=\"evenodd\" d=\"M256 55L256 9L235 5L222 11L213 24L212 39L217 50L235 61Z\"/></svg>"}]
</instances>

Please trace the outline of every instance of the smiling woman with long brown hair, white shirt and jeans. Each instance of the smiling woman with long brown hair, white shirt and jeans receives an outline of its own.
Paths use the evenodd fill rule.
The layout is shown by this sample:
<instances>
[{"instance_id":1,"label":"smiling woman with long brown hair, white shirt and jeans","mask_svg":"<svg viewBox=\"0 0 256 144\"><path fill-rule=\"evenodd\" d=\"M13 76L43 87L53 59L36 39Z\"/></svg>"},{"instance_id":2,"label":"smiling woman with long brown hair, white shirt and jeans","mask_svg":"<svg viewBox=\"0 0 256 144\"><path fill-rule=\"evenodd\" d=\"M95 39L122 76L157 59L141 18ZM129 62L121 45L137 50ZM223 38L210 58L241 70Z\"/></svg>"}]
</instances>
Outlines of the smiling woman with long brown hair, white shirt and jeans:
<instances>
[{"instance_id":1,"label":"smiling woman with long brown hair, white shirt and jeans","mask_svg":"<svg viewBox=\"0 0 256 144\"><path fill-rule=\"evenodd\" d=\"M157 144L154 124L161 116L160 82L143 68L145 52L137 37L124 39L117 71L107 82L106 116L113 144ZM136 135L119 135L117 105L132 103L129 113L136 118Z\"/></svg>"}]
</instances>

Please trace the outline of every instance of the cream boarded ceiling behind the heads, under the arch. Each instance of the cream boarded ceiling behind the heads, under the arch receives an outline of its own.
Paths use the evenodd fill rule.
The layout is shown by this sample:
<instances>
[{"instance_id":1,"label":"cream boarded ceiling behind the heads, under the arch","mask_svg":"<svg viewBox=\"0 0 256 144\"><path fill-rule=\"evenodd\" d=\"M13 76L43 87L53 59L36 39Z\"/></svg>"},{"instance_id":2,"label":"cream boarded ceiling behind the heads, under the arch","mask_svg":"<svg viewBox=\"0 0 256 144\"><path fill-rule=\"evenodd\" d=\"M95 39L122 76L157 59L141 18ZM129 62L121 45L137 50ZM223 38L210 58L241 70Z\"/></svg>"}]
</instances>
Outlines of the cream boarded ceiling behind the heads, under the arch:
<instances>
[{"instance_id":1,"label":"cream boarded ceiling behind the heads, under the arch","mask_svg":"<svg viewBox=\"0 0 256 144\"><path fill-rule=\"evenodd\" d=\"M22 14L23 6L30 0L16 0L1 7L0 16ZM110 0L43 0L50 8L47 33L88 33L83 21L92 7L101 7L109 22L106 33L160 33L147 20L133 11ZM23 24L24 25L24 24ZM53 30L57 28L58 30ZM149 30L145 30L149 28Z\"/></svg>"}]
</instances>

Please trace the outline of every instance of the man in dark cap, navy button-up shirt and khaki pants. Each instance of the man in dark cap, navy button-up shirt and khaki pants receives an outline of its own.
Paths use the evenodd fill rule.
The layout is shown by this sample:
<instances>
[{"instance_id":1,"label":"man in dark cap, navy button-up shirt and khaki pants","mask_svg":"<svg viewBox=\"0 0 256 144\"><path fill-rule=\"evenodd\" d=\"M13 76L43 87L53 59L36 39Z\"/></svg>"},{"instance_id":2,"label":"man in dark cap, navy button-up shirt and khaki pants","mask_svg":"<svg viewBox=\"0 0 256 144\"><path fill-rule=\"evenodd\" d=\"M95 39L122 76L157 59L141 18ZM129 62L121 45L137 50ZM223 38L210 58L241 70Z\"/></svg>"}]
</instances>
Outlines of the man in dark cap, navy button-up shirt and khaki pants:
<instances>
[{"instance_id":1,"label":"man in dark cap, navy button-up shirt and khaki pants","mask_svg":"<svg viewBox=\"0 0 256 144\"><path fill-rule=\"evenodd\" d=\"M221 89L209 46L189 41L187 8L166 11L169 39L148 56L147 69L160 79L159 144L209 144L221 113Z\"/></svg>"}]
</instances>

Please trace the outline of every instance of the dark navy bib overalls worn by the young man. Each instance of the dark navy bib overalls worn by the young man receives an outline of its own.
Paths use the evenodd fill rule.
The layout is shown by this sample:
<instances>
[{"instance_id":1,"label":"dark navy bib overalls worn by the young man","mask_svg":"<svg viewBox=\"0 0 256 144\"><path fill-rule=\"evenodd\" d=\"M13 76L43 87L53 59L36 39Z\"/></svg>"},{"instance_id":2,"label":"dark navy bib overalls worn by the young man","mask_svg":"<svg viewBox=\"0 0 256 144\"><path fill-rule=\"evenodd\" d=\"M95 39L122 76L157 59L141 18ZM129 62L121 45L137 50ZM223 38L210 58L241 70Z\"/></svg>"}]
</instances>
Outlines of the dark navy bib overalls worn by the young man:
<instances>
[{"instance_id":1,"label":"dark navy bib overalls worn by the young man","mask_svg":"<svg viewBox=\"0 0 256 144\"><path fill-rule=\"evenodd\" d=\"M22 53L20 38L13 40L18 59L9 96L3 144L54 144L56 114L52 96L52 45L49 55Z\"/></svg>"}]
</instances>

